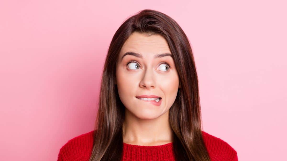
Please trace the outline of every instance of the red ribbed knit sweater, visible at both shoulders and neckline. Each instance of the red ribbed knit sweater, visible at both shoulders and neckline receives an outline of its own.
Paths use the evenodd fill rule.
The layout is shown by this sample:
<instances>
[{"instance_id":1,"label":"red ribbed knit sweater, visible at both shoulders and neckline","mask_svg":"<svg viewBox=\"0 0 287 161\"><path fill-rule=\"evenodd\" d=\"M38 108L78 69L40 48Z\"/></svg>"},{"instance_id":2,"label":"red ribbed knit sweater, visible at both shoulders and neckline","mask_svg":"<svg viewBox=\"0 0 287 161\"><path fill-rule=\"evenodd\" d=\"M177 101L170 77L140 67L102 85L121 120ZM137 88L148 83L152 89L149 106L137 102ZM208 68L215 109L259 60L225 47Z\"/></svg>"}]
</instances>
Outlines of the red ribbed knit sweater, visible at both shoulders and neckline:
<instances>
[{"instance_id":1,"label":"red ribbed knit sweater, visible at both shoulders and neckline","mask_svg":"<svg viewBox=\"0 0 287 161\"><path fill-rule=\"evenodd\" d=\"M69 140L61 149L58 161L88 161L93 149L93 133L77 136ZM220 138L202 131L203 141L212 161L238 161L237 152ZM172 142L159 146L138 146L123 143L122 160L170 160L175 161Z\"/></svg>"}]
</instances>

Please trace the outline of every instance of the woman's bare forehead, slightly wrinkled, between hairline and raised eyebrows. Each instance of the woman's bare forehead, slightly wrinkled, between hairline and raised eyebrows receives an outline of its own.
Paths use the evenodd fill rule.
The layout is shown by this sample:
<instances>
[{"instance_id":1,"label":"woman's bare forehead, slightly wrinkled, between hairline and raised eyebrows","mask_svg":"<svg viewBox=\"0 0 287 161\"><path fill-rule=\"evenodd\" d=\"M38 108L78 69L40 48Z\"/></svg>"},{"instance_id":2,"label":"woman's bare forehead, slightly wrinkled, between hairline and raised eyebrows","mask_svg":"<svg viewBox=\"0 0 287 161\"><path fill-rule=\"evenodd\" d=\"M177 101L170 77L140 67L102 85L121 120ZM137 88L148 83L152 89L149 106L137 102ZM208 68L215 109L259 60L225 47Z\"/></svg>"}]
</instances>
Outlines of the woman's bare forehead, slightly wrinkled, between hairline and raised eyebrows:
<instances>
[{"instance_id":1,"label":"woman's bare forehead, slightly wrinkled, between hairline and raised eyebrows","mask_svg":"<svg viewBox=\"0 0 287 161\"><path fill-rule=\"evenodd\" d=\"M123 44L120 55L125 52L138 52L145 54L161 54L170 52L168 42L159 34L143 34L133 32Z\"/></svg>"}]
</instances>

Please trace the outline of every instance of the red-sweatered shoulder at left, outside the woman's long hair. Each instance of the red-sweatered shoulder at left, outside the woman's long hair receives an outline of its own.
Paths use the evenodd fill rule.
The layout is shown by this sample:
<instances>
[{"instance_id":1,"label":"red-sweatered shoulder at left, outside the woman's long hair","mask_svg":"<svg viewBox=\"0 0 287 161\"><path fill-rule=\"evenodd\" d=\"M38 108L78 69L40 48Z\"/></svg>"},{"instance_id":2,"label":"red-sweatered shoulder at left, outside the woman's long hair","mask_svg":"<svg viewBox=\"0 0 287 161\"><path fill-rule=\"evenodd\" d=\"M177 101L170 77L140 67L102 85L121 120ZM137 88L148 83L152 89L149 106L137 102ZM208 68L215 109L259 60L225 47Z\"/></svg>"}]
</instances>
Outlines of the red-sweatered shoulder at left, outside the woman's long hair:
<instances>
[{"instance_id":1,"label":"red-sweatered shoulder at left, outside the woman's long hair","mask_svg":"<svg viewBox=\"0 0 287 161\"><path fill-rule=\"evenodd\" d=\"M85 160L93 149L94 130L68 140L60 149L58 160Z\"/></svg>"}]
</instances>

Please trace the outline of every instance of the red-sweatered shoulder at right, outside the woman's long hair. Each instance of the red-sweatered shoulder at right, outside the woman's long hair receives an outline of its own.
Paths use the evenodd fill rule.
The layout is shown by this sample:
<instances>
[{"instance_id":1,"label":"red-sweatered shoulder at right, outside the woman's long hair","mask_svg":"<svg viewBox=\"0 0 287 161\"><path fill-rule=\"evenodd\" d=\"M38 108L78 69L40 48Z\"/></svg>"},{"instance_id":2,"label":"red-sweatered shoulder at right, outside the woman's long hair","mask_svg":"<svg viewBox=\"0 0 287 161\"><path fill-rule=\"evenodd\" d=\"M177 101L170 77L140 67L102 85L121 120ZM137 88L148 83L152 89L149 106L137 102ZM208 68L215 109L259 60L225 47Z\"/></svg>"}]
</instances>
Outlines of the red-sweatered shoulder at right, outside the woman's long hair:
<instances>
[{"instance_id":1,"label":"red-sweatered shoulder at right, outside the woman's long hair","mask_svg":"<svg viewBox=\"0 0 287 161\"><path fill-rule=\"evenodd\" d=\"M237 152L224 140L202 131L204 144L211 160L237 161Z\"/></svg>"}]
</instances>

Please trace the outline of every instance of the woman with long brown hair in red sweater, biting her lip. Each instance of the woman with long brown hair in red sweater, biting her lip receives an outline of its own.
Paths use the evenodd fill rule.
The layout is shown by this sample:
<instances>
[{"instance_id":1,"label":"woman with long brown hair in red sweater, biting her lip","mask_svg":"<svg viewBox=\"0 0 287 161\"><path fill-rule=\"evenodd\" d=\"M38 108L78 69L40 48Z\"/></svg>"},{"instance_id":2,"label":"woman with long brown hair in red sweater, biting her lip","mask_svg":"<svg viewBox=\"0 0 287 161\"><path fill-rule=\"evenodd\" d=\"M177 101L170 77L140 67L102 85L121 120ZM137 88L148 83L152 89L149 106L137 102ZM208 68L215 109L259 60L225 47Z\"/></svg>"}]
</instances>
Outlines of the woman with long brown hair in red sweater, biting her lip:
<instances>
[{"instance_id":1,"label":"woman with long brown hair in red sweater, biting her lip","mask_svg":"<svg viewBox=\"0 0 287 161\"><path fill-rule=\"evenodd\" d=\"M58 160L238 160L229 144L201 131L192 50L171 17L146 9L119 27L95 130L69 140Z\"/></svg>"}]
</instances>

